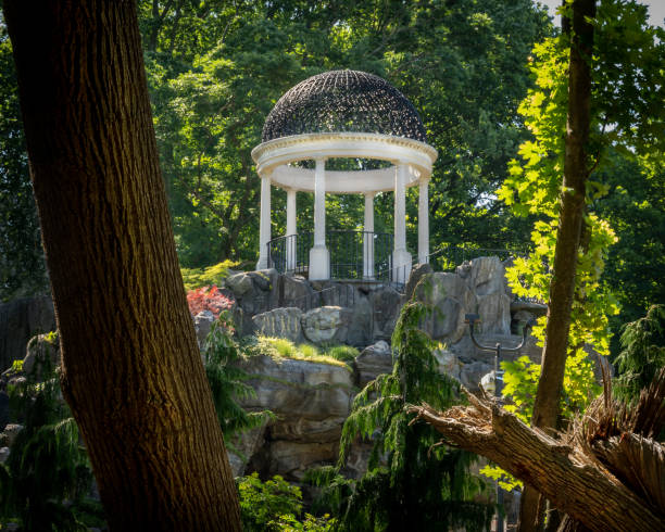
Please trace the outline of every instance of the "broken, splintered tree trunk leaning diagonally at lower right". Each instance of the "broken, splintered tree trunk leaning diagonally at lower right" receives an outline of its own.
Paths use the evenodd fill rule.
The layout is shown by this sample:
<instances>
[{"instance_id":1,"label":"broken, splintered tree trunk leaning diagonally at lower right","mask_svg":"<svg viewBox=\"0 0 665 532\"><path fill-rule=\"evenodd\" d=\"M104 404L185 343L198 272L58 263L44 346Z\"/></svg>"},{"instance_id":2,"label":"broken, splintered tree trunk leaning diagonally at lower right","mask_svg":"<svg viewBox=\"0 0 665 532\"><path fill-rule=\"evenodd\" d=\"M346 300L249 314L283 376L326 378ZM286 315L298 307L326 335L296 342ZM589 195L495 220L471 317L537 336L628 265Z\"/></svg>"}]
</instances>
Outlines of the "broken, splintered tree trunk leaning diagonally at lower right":
<instances>
[{"instance_id":1,"label":"broken, splintered tree trunk leaning diagonally at lower right","mask_svg":"<svg viewBox=\"0 0 665 532\"><path fill-rule=\"evenodd\" d=\"M578 448L562 444L539 429L530 429L493 402L473 395L469 398L472 406L446 413L428 407L413 407L411 411L441 432L448 442L486 456L529 483L589 530L665 530L662 512L644 504Z\"/></svg>"}]
</instances>

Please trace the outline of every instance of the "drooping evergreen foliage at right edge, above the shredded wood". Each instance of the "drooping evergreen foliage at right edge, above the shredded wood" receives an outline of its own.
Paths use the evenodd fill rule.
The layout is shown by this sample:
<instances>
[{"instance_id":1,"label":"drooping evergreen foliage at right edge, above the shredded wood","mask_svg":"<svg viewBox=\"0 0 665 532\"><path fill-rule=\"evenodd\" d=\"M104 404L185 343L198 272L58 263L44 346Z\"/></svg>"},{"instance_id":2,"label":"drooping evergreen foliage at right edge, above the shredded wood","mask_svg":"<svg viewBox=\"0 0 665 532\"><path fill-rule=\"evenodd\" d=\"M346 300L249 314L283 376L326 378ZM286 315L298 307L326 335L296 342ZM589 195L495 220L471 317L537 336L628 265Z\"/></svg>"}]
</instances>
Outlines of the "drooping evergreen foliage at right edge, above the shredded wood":
<instances>
[{"instance_id":1,"label":"drooping evergreen foliage at right edge, above the shredded wood","mask_svg":"<svg viewBox=\"0 0 665 532\"><path fill-rule=\"evenodd\" d=\"M647 316L626 325L622 347L614 393L624 401L636 401L665 366L665 305L653 305Z\"/></svg>"}]
</instances>

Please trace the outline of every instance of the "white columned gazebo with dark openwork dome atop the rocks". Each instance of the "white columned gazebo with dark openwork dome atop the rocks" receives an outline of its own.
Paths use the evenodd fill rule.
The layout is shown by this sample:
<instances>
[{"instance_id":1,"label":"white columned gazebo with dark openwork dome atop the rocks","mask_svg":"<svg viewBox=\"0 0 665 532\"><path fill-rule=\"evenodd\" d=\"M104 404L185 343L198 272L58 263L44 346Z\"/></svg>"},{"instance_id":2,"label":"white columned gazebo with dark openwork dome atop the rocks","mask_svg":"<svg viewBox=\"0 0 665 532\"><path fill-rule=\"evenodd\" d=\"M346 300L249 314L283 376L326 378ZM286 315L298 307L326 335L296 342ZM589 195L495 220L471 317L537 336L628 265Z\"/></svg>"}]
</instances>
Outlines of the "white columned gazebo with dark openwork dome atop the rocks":
<instances>
[{"instance_id":1,"label":"white columned gazebo with dark openwork dome atop the rocks","mask_svg":"<svg viewBox=\"0 0 665 532\"><path fill-rule=\"evenodd\" d=\"M304 271L311 280L329 279L326 237L332 236L325 229L325 194L357 193L365 197L362 262L359 259L357 274L346 269L344 276L375 279L384 268L391 271L392 281L404 282L412 267L406 250L405 190L416 185L417 256L418 262L427 262L427 187L437 151L426 143L425 128L411 102L385 79L359 71L332 71L301 81L268 114L262 143L252 150L252 157L261 177L258 269L274 266L283 271ZM359 165L356 170L326 170L326 161L331 159L387 164L375 169ZM314 161L314 168L308 168L303 161ZM271 185L287 191L286 236L273 240ZM384 257L379 244L385 239L374 232L374 197L387 191L394 192L394 236L387 236L393 246ZM313 245L297 232L297 192L314 192Z\"/></svg>"}]
</instances>

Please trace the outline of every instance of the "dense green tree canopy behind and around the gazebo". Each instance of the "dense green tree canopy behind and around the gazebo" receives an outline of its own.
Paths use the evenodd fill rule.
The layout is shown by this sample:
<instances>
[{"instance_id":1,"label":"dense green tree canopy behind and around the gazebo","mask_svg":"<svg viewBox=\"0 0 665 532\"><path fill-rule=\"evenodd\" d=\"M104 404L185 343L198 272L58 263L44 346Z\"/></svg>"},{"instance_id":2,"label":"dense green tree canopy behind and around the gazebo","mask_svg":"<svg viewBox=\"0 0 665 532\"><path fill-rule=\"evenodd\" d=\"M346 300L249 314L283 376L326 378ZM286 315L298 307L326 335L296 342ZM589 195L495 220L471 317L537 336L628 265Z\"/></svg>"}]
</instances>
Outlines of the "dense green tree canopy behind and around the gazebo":
<instances>
[{"instance_id":1,"label":"dense green tree canopy behind and around the gazebo","mask_svg":"<svg viewBox=\"0 0 665 532\"><path fill-rule=\"evenodd\" d=\"M287 89L332 68L384 76L421 113L440 154L430 187L432 238L522 243L523 220L492 193L524 137L516 116L530 85L524 60L551 33L545 12L531 0L306 7L290 0L140 1L139 20L184 265L255 259L259 179L251 149ZM285 203L284 191L275 190L274 235L286 221ZM362 220L359 195L330 197L326 208L330 229L352 229ZM416 211L411 191L410 239ZM377 231L391 227L390 194L378 194L375 225ZM299 198L298 227L312 230L308 194Z\"/></svg>"}]
</instances>

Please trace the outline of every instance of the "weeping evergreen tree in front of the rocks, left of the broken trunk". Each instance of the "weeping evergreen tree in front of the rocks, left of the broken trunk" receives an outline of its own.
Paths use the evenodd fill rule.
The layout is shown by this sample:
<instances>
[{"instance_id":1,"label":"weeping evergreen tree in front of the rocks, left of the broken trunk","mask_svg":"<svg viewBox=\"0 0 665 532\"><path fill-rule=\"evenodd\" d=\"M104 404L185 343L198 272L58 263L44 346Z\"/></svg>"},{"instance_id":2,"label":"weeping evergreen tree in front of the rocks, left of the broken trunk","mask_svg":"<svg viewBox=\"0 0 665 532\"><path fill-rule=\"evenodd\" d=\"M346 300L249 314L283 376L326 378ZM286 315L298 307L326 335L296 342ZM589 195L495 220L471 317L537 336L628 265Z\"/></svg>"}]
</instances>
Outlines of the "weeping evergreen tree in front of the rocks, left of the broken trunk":
<instances>
[{"instance_id":1,"label":"weeping evergreen tree in front of the rocks, left of the broken trunk","mask_svg":"<svg viewBox=\"0 0 665 532\"><path fill-rule=\"evenodd\" d=\"M477 456L438 445L438 433L425 423L410 425L406 414L410 404L443 409L460 402L459 383L439 373L434 343L418 329L427 312L413 301L404 306L392 335L392 373L378 376L355 396L342 429L338 468L357 438L372 439L367 472L356 482L336 474L339 469L319 472L319 485L327 481L323 498L338 505L332 509L341 530L489 527L493 505L472 502L484 489L468 472Z\"/></svg>"}]
</instances>

